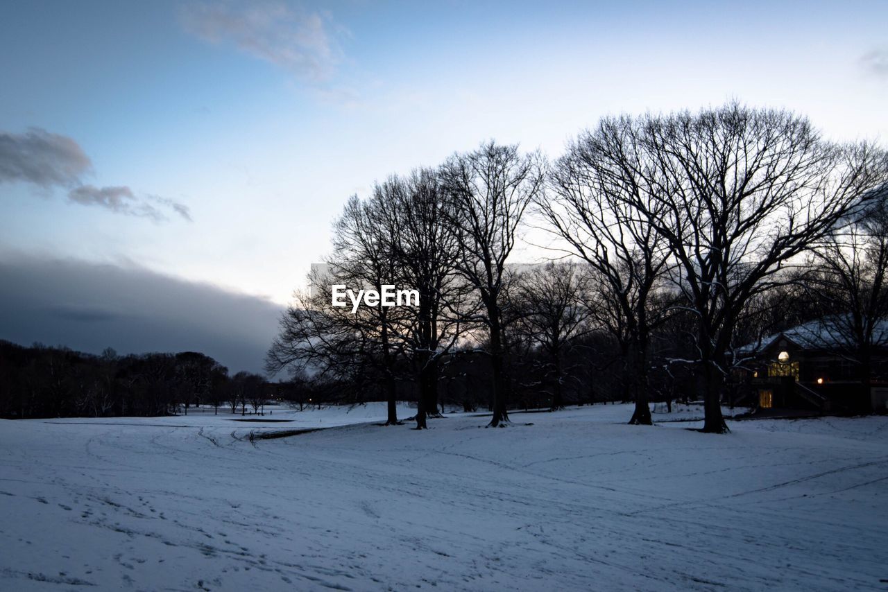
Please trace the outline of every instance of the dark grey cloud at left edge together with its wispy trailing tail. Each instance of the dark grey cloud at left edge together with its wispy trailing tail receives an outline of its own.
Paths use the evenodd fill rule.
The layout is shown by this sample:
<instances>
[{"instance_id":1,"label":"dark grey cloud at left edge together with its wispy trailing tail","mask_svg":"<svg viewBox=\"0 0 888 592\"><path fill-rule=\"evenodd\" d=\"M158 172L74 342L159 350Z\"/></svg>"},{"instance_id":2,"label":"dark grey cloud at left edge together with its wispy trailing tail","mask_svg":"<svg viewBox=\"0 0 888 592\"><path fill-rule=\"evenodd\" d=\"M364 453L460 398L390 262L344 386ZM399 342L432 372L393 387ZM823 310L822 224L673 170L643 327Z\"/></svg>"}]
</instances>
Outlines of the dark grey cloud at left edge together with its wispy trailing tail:
<instances>
[{"instance_id":1,"label":"dark grey cloud at left edge together with its wispy trailing tail","mask_svg":"<svg viewBox=\"0 0 888 592\"><path fill-rule=\"evenodd\" d=\"M155 222L168 218L163 209L191 221L191 212L178 201L157 196L140 197L126 185L97 187L83 178L92 162L74 139L30 128L23 134L0 132L0 183L29 183L44 190L68 189L67 198L83 206L98 206L118 214L148 217ZM159 207L158 207L159 206Z\"/></svg>"}]
</instances>

